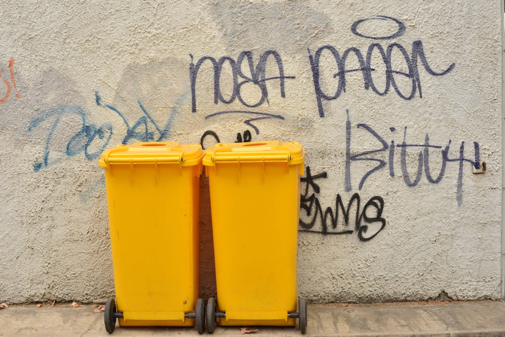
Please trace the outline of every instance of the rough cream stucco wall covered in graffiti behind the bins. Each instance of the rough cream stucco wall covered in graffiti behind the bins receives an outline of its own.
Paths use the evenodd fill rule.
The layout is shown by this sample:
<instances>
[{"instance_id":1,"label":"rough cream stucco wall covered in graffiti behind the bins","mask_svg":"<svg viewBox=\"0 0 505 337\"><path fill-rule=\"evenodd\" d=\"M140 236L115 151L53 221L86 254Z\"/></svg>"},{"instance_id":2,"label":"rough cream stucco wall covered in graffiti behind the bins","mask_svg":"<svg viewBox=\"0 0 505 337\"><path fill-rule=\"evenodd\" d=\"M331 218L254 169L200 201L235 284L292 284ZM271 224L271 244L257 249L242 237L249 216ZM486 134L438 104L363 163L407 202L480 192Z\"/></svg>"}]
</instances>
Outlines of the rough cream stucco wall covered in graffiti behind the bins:
<instances>
[{"instance_id":1,"label":"rough cream stucco wall covered in graffiti behind the bins","mask_svg":"<svg viewBox=\"0 0 505 337\"><path fill-rule=\"evenodd\" d=\"M310 301L501 298L498 0L0 8L0 301L112 296L102 151L218 139L304 145Z\"/></svg>"}]
</instances>

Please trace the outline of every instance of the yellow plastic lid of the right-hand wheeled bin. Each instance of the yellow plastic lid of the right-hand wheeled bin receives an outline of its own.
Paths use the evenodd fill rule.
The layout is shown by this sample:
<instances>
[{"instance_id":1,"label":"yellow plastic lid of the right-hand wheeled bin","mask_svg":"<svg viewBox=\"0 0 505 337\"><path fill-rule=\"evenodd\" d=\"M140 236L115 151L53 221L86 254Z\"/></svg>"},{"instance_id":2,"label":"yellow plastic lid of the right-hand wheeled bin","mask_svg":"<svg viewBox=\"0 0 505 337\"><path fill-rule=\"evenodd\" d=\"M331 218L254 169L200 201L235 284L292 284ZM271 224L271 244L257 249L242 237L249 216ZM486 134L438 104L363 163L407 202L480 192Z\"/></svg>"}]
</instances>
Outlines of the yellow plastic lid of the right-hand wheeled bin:
<instances>
[{"instance_id":1,"label":"yellow plastic lid of the right-hand wheeled bin","mask_svg":"<svg viewBox=\"0 0 505 337\"><path fill-rule=\"evenodd\" d=\"M278 140L243 143L217 143L206 150L203 164L237 162L287 162L289 165L304 163L305 150L300 143Z\"/></svg>"}]
</instances>

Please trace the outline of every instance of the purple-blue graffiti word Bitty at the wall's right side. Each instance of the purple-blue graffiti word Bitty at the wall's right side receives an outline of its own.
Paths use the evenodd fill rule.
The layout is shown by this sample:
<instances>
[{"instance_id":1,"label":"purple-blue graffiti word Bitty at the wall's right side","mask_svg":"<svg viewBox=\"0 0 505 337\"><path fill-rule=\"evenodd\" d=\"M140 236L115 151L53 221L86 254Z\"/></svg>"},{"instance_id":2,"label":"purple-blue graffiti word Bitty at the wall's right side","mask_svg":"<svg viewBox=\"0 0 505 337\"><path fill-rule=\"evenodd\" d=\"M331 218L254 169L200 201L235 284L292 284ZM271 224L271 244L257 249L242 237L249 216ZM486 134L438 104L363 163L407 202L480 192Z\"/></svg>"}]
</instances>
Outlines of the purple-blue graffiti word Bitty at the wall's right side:
<instances>
[{"instance_id":1,"label":"purple-blue graffiti word Bitty at the wall's right side","mask_svg":"<svg viewBox=\"0 0 505 337\"><path fill-rule=\"evenodd\" d=\"M346 146L345 146L345 191L351 191L352 186L351 186L351 162L354 161L372 161L376 162L377 166L369 170L367 173L363 175L363 177L360 180L359 183L359 189L361 190L363 187L363 184L365 181L375 172L383 169L386 167L386 160L379 159L379 158L372 158L370 157L373 154L379 154L382 152L388 151L388 169L389 169L389 175L391 177L394 177L395 175L395 169L394 169L394 162L395 162L395 150L396 148L400 148L400 169L403 177L403 181L405 184L409 187L414 187L416 186L419 181L421 180L421 177L424 175L428 182L437 184L439 183L442 178L445 175L445 169L447 166L447 163L452 163L456 162L459 164L459 171L458 171L458 181L457 181L457 192L456 192L456 199L458 201L458 205L461 206L463 204L463 163L468 162L471 163L476 169L480 168L480 147L479 143L474 141L473 142L473 148L474 148L474 159L466 158L465 157L465 142L462 141L459 149L459 156L451 158L449 156L450 152L450 146L451 146L451 140L449 139L447 141L447 145L445 147L439 146L439 145L432 145L430 143L430 137L428 134L425 135L424 142L422 143L410 143L407 142L407 127L405 127L403 131L403 141L396 144L394 140L391 140L390 143L387 143L384 138L377 132L375 131L371 126L365 124L365 123L359 123L357 125L357 128L359 129L364 129L366 130L369 134L371 134L379 143L380 146L369 151L364 151L355 155L350 155L350 145L351 145L351 122L349 120L349 111L347 110L347 121L345 124L345 139L346 139ZM394 127L389 128L391 132L395 132L396 129ZM407 149L408 148L419 148L419 154L418 154L418 165L417 165L417 171L415 173L415 178L411 179L411 174L409 173L407 167ZM430 151L431 150L431 151ZM440 171L436 175L436 178L433 178L433 173L429 165L429 158L431 156L430 153L433 153L433 151L440 151L440 159L441 159L441 165L440 165Z\"/></svg>"}]
</instances>

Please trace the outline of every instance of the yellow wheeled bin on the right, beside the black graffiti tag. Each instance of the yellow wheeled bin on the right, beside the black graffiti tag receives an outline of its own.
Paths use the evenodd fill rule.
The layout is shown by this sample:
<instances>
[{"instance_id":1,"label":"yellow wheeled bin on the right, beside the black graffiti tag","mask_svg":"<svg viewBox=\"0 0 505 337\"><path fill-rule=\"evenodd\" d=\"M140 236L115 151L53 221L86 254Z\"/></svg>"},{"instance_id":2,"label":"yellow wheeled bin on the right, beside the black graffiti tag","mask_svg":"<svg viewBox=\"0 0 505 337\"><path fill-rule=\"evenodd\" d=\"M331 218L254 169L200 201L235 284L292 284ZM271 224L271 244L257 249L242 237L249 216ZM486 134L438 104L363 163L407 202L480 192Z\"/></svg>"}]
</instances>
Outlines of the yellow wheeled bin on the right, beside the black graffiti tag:
<instances>
[{"instance_id":1,"label":"yellow wheeled bin on the right, beside the black graffiti tag","mask_svg":"<svg viewBox=\"0 0 505 337\"><path fill-rule=\"evenodd\" d=\"M218 143L203 160L209 176L217 299L207 304L207 328L294 326L302 333L307 307L297 309L296 251L300 174L297 142Z\"/></svg>"}]
</instances>

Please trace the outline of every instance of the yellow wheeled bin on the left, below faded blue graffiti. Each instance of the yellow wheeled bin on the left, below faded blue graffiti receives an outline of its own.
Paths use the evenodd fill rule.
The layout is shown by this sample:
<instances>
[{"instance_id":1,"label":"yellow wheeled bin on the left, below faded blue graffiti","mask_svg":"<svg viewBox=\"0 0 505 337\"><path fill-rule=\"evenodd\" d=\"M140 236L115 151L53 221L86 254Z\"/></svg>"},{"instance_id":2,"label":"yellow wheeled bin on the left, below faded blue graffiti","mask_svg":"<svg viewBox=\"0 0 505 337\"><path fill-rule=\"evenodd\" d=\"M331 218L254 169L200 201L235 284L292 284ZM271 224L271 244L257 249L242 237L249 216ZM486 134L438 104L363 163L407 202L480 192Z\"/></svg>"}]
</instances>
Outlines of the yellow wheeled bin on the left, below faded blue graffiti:
<instances>
[{"instance_id":1,"label":"yellow wheeled bin on the left, below faded blue graffiti","mask_svg":"<svg viewBox=\"0 0 505 337\"><path fill-rule=\"evenodd\" d=\"M199 145L137 142L106 150L116 299L105 325L205 327L198 299Z\"/></svg>"}]
</instances>

